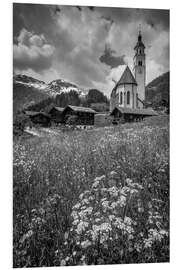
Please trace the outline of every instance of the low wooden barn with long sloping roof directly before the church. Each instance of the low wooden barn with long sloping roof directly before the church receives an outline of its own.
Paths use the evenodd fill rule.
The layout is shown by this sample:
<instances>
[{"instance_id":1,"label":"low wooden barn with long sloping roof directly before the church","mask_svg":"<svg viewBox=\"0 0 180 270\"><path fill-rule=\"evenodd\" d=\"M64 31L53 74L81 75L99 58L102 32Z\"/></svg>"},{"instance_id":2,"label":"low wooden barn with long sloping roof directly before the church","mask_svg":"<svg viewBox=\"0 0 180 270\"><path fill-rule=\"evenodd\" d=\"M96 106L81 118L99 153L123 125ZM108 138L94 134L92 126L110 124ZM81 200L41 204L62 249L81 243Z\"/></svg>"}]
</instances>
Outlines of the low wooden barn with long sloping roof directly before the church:
<instances>
[{"instance_id":1,"label":"low wooden barn with long sloping roof directly before the church","mask_svg":"<svg viewBox=\"0 0 180 270\"><path fill-rule=\"evenodd\" d=\"M145 117L156 116L158 114L152 109L131 109L115 107L110 115L113 116L113 123L117 124L119 122L140 121Z\"/></svg>"}]
</instances>

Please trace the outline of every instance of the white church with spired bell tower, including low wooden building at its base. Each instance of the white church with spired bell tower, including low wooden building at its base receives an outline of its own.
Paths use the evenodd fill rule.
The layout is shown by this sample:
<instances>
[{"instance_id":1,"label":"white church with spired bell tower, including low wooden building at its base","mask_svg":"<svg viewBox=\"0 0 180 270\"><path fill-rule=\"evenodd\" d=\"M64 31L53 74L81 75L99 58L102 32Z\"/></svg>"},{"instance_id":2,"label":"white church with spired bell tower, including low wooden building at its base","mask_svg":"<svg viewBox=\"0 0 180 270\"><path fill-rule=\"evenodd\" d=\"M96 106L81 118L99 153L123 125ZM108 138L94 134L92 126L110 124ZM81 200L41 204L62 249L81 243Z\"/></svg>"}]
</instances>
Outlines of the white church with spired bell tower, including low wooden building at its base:
<instances>
[{"instance_id":1,"label":"white church with spired bell tower, including low wooden building at its base","mask_svg":"<svg viewBox=\"0 0 180 270\"><path fill-rule=\"evenodd\" d=\"M134 47L133 72L129 66L121 67L120 79L114 86L110 97L110 114L127 121L157 115L152 109L144 108L146 84L146 55L141 31Z\"/></svg>"}]
</instances>

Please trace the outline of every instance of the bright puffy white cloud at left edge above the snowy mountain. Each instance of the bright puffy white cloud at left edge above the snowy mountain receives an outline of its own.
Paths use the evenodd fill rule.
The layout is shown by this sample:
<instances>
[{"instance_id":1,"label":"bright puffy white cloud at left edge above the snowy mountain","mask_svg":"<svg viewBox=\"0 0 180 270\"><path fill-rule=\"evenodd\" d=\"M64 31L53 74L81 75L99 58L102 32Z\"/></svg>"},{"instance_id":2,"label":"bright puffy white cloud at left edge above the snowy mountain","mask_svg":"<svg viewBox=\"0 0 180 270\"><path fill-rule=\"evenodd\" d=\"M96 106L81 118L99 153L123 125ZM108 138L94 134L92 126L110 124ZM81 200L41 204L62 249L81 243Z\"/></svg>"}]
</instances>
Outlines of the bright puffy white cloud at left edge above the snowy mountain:
<instances>
[{"instance_id":1,"label":"bright puffy white cloud at left edge above the snowy mountain","mask_svg":"<svg viewBox=\"0 0 180 270\"><path fill-rule=\"evenodd\" d=\"M17 41L13 45L14 69L42 72L51 67L54 47L46 43L43 35L22 29Z\"/></svg>"}]
</instances>

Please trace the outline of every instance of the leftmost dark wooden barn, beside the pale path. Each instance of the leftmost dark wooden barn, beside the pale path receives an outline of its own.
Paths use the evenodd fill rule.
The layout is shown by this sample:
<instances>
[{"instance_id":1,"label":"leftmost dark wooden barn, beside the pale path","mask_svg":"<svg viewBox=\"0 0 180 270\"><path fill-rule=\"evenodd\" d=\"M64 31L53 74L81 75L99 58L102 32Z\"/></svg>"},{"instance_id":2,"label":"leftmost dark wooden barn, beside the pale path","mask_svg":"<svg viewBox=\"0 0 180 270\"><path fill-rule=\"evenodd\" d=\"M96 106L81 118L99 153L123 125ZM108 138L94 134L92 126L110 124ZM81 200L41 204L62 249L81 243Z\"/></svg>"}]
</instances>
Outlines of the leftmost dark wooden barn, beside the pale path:
<instances>
[{"instance_id":1,"label":"leftmost dark wooden barn, beside the pale path","mask_svg":"<svg viewBox=\"0 0 180 270\"><path fill-rule=\"evenodd\" d=\"M38 124L43 127L50 126L51 124L51 117L45 112L25 111L25 114L29 116L29 119L34 124Z\"/></svg>"}]
</instances>

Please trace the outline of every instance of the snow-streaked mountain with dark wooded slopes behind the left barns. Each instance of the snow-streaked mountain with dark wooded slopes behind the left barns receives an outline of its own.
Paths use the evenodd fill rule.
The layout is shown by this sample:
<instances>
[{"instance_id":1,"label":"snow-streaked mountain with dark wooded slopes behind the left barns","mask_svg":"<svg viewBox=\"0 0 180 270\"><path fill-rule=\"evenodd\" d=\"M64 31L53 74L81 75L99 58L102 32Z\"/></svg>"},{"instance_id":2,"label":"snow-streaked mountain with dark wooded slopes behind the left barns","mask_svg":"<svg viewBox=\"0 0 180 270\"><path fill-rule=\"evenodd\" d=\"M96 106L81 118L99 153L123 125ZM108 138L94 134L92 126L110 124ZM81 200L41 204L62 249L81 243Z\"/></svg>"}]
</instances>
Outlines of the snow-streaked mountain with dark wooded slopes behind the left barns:
<instances>
[{"instance_id":1,"label":"snow-streaked mountain with dark wooded slopes behind the left barns","mask_svg":"<svg viewBox=\"0 0 180 270\"><path fill-rule=\"evenodd\" d=\"M100 103L103 103L104 106L104 103L108 104L108 99L97 89L85 90L62 79L46 84L26 75L14 75L13 77L14 114L22 109L46 110L52 104L60 107L68 104L90 107L93 104L101 109Z\"/></svg>"}]
</instances>

